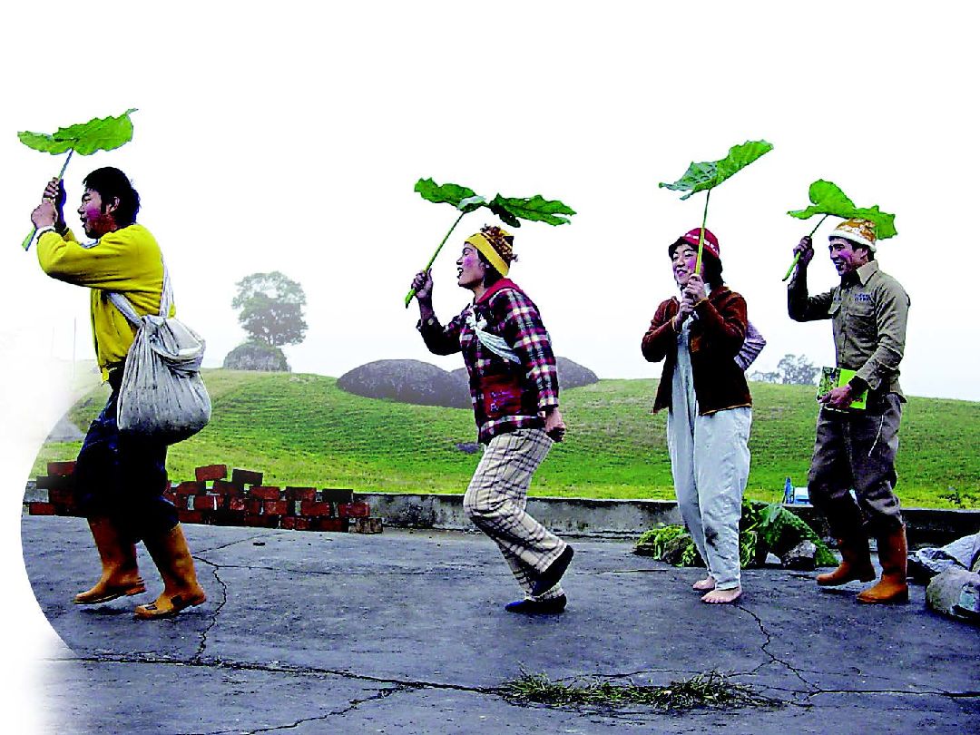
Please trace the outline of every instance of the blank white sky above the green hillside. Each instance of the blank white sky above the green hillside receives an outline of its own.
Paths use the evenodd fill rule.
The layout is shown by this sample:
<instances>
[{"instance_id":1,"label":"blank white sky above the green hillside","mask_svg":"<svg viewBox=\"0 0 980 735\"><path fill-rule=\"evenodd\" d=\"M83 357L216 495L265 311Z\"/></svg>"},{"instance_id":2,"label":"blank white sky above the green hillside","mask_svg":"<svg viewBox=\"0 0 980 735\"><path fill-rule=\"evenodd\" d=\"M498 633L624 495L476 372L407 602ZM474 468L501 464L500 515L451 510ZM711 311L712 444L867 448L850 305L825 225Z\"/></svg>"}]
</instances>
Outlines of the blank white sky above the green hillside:
<instances>
[{"instance_id":1,"label":"blank white sky above the green hillside","mask_svg":"<svg viewBox=\"0 0 980 735\"><path fill-rule=\"evenodd\" d=\"M780 281L811 226L785 212L806 207L809 182L823 177L858 206L897 215L899 236L881 245L879 261L912 300L907 393L980 400L968 311L980 261L971 219L980 169L972 6L45 8L5 10L0 30L8 560L20 558L27 469L67 402L49 359L72 356L75 323L75 354L91 357L86 293L46 278L33 252L18 247L61 159L28 150L16 132L129 107L139 108L131 143L73 160L68 220L76 227L85 173L111 165L130 174L180 315L208 341L206 365L220 365L244 338L230 306L235 282L281 270L308 298L307 339L286 348L294 370L340 375L387 358L459 367L458 356L425 351L417 308L402 306L455 219L449 206L413 192L418 177L431 176L488 197L541 193L575 209L570 225L515 232L512 275L540 306L558 354L601 377L657 376L640 337L673 293L666 246L700 224L704 202L704 194L681 202L657 183L764 138L775 149L712 194L708 221L727 282L768 340L754 369L773 369L786 353L833 360L829 323L791 322ZM444 319L468 295L455 285L462 239L487 216L467 216L436 262ZM818 247L830 226L817 232ZM811 290L834 278L818 249ZM4 643L37 655L31 641L49 641L50 628L23 568L10 566L30 634L8 630Z\"/></svg>"}]
</instances>

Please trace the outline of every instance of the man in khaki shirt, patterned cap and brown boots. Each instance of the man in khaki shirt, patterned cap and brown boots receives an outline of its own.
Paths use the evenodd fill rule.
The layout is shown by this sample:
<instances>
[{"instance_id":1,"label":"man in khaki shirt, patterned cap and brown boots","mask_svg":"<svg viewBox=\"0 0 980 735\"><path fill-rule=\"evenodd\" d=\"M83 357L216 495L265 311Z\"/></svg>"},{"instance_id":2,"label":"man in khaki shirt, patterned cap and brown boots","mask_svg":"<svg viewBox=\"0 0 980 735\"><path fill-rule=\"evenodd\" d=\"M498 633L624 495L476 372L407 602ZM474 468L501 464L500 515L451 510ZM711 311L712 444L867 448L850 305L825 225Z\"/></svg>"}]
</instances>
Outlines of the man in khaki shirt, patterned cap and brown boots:
<instances>
[{"instance_id":1,"label":"man in khaki shirt, patterned cap and brown boots","mask_svg":"<svg viewBox=\"0 0 980 735\"><path fill-rule=\"evenodd\" d=\"M873 223L844 221L830 233L830 259L841 283L809 296L813 246L794 248L800 263L789 284L791 319L831 319L838 368L856 370L846 385L820 397L809 497L838 539L842 562L816 583L837 586L876 576L868 533L878 540L881 579L858 594L862 603L908 601L906 527L895 495L895 456L905 396L899 364L905 353L909 300L902 284L878 268ZM867 391L866 409L854 408ZM851 495L854 489L855 497Z\"/></svg>"}]
</instances>

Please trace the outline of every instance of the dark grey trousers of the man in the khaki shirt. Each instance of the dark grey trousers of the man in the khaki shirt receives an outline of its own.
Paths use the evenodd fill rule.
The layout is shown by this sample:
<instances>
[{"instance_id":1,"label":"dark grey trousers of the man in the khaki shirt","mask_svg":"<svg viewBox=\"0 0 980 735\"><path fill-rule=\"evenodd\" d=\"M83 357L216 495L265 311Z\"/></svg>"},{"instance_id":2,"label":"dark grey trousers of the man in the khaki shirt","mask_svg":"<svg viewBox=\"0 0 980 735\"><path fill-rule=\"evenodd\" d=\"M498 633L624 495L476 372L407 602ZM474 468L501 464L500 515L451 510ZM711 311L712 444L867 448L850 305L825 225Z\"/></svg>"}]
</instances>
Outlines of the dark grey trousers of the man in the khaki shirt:
<instances>
[{"instance_id":1,"label":"dark grey trousers of the man in the khaki shirt","mask_svg":"<svg viewBox=\"0 0 980 735\"><path fill-rule=\"evenodd\" d=\"M878 536L903 524L895 495L901 420L902 402L894 393L869 399L866 411L820 409L809 499L838 538Z\"/></svg>"}]
</instances>

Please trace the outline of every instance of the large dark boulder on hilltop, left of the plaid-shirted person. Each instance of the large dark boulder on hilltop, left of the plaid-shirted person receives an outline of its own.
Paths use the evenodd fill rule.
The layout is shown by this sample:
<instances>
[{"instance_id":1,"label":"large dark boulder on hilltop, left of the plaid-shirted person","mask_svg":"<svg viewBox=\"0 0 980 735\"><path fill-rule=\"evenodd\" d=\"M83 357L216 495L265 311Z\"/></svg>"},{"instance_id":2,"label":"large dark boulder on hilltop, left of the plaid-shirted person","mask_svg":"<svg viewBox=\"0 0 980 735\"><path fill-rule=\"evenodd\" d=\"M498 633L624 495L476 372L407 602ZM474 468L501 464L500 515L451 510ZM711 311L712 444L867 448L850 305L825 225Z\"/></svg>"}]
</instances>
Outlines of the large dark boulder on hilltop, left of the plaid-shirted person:
<instances>
[{"instance_id":1,"label":"large dark boulder on hilltop, left of the plaid-shirted person","mask_svg":"<svg viewBox=\"0 0 980 735\"><path fill-rule=\"evenodd\" d=\"M419 406L468 409L465 379L418 360L378 360L345 372L337 387L365 398L387 398Z\"/></svg>"}]
</instances>

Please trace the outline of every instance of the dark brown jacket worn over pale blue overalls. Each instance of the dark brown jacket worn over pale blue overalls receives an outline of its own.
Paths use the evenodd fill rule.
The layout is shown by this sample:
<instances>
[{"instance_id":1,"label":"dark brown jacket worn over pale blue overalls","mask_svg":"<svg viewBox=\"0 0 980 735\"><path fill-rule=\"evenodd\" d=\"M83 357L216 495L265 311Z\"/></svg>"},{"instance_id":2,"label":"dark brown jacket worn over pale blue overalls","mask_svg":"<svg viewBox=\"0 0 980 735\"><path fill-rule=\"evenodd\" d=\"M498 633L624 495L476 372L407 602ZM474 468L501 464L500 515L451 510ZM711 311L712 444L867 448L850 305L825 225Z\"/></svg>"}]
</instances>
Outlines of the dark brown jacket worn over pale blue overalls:
<instances>
[{"instance_id":1,"label":"dark brown jacket worn over pale blue overalls","mask_svg":"<svg viewBox=\"0 0 980 735\"><path fill-rule=\"evenodd\" d=\"M676 298L664 301L643 335L643 357L651 363L665 361L654 413L670 408L673 370L677 364L673 318L679 309ZM698 413L707 416L725 409L752 406L745 373L735 363L749 322L745 299L727 286L718 286L695 308L695 314L697 319L691 324L691 369Z\"/></svg>"}]
</instances>

